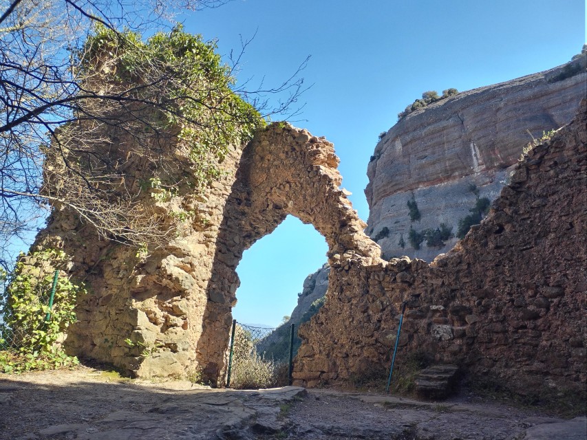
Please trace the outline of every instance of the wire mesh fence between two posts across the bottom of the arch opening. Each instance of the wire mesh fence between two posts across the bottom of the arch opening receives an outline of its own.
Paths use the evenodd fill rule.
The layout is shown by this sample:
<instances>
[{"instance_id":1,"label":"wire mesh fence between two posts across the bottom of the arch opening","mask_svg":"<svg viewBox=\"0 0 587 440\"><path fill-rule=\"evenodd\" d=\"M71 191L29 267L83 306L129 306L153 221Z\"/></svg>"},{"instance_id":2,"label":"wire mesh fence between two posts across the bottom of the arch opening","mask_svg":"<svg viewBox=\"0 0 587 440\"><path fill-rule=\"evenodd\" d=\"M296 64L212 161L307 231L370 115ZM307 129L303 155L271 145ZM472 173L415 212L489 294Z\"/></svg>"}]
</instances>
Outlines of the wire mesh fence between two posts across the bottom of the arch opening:
<instances>
[{"instance_id":1,"label":"wire mesh fence between two posts across the bottom of the arch opening","mask_svg":"<svg viewBox=\"0 0 587 440\"><path fill-rule=\"evenodd\" d=\"M233 321L226 386L239 389L291 384L295 325L253 327Z\"/></svg>"}]
</instances>

